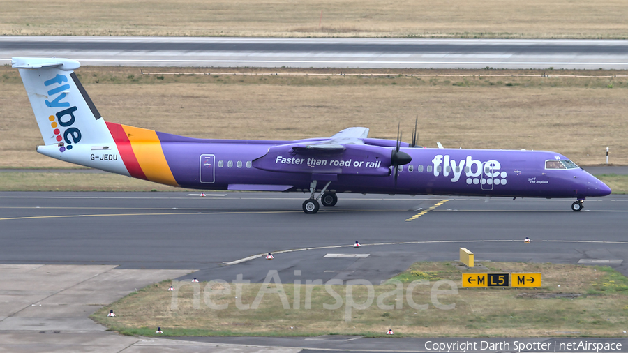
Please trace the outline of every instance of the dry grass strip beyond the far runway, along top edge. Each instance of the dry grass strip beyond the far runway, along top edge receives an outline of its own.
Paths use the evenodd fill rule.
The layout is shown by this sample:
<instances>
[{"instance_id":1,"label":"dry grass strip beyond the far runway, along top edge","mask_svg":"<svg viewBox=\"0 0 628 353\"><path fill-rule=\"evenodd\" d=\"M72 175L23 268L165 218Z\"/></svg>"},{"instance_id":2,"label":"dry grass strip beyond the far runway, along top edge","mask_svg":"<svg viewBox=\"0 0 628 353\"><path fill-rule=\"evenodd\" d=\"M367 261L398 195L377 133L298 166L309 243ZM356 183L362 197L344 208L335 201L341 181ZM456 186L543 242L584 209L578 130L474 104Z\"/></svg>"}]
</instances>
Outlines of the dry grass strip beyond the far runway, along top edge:
<instances>
[{"instance_id":1,"label":"dry grass strip beyond the far runway, along top edge","mask_svg":"<svg viewBox=\"0 0 628 353\"><path fill-rule=\"evenodd\" d=\"M0 1L0 34L626 38L623 0Z\"/></svg>"}]
</instances>

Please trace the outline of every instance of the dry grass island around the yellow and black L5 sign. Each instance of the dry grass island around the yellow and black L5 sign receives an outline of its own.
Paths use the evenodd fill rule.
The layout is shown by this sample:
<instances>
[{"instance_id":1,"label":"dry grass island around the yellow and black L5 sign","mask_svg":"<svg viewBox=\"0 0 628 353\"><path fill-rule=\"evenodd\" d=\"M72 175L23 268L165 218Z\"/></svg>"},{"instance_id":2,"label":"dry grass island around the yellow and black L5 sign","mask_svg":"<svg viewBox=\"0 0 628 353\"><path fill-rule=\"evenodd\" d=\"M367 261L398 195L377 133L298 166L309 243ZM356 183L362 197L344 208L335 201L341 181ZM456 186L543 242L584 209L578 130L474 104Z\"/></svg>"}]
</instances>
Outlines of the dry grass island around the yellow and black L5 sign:
<instances>
[{"instance_id":1,"label":"dry grass island around the yellow and black L5 sign","mask_svg":"<svg viewBox=\"0 0 628 353\"><path fill-rule=\"evenodd\" d=\"M234 285L231 294L210 294L205 291L207 283L200 283L199 306L194 308L192 283L172 293L167 291L171 283L164 282L126 296L98 310L92 318L125 333L154 335L155 327L161 326L167 334L190 336L384 336L387 329L392 328L396 336L591 337L622 336L622 327L628 324L625 315L628 279L610 268L527 263L491 263L488 266L491 271L541 272L543 287L459 289L458 294L439 296L438 300L444 305L456 304L452 310L439 310L433 304L425 310L410 308L404 295L401 309L380 309L374 301L365 310L352 310L351 321L345 322L344 305L336 310L323 309L323 303L333 304L335 300L322 285L313 287L310 309L304 308L305 286L301 286L300 308L294 309L294 285L283 284L290 309L283 308L278 294L264 294L256 310L238 310ZM398 278L403 278L407 285L426 277L431 285L436 280L450 279L461 286L461 271L447 263L419 262ZM431 285L415 288L415 303L431 303ZM212 289L219 288L215 285ZM244 285L239 299L251 304L259 289L260 284ZM393 285L375 286L375 298L393 289ZM345 287L334 286L334 291L345 299ZM356 287L353 293L355 303L366 301L364 287ZM206 294L216 304L228 303L228 308L210 309L205 304ZM565 298L565 294L581 295L572 299ZM174 310L171 308L173 295L177 296ZM394 296L384 299L384 304L392 303L396 303ZM117 313L114 319L106 317L110 309Z\"/></svg>"}]
</instances>

